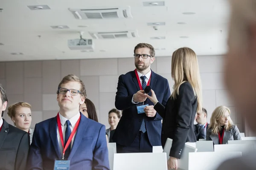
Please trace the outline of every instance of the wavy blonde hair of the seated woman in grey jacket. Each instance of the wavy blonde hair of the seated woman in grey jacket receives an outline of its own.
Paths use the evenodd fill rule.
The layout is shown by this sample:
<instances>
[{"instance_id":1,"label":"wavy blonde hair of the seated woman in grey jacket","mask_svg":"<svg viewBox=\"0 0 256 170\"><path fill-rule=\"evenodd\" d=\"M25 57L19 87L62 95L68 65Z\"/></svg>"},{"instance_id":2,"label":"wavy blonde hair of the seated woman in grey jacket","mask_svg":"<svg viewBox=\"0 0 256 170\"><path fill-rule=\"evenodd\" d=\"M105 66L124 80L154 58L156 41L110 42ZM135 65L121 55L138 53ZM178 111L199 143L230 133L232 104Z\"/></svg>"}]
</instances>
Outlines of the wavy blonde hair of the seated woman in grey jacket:
<instances>
[{"instance_id":1,"label":"wavy blonde hair of the seated woman in grey jacket","mask_svg":"<svg viewBox=\"0 0 256 170\"><path fill-rule=\"evenodd\" d=\"M221 119L222 117L225 117L225 112L228 111L230 115L230 109L227 108L226 106L218 106L215 108L215 110L212 112L211 120L210 120L210 125L209 128L212 128L212 134L218 134L219 131L221 130L221 125L218 121L218 119ZM226 130L230 130L233 128L233 121L231 118L228 118L228 124L225 125Z\"/></svg>"}]
</instances>

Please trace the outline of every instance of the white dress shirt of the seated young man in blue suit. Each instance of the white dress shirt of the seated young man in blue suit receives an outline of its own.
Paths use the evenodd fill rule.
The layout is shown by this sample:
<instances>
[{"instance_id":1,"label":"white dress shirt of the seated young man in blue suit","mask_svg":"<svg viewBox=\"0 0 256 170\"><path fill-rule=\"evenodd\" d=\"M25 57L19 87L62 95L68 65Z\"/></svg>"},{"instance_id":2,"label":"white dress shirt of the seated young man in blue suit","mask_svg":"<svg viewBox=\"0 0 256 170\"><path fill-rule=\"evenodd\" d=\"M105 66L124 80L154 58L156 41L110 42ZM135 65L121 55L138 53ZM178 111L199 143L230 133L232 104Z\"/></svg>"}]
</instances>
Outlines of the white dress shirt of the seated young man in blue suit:
<instances>
[{"instance_id":1,"label":"white dress shirt of the seated young man in blue suit","mask_svg":"<svg viewBox=\"0 0 256 170\"><path fill-rule=\"evenodd\" d=\"M67 118L61 116L60 113L59 113L59 116L60 116L60 119L61 119L61 129L62 129L62 134L63 134L63 141L64 141L64 144L65 144L65 133L66 133L66 128L67 128L66 121L67 120L70 121L70 130L72 132L75 125L76 125L76 122L78 121L78 119L80 117L80 112L78 112L75 116L71 117L70 119L67 119ZM73 146L75 136L76 136L76 133L74 134L74 136L72 138L71 145L70 145L71 148ZM62 155L64 148L61 144L61 137L60 137L60 133L58 131L58 127L57 127L57 138L58 138L58 143L59 143L59 147L60 147L60 151L61 151L61 155Z\"/></svg>"}]
</instances>

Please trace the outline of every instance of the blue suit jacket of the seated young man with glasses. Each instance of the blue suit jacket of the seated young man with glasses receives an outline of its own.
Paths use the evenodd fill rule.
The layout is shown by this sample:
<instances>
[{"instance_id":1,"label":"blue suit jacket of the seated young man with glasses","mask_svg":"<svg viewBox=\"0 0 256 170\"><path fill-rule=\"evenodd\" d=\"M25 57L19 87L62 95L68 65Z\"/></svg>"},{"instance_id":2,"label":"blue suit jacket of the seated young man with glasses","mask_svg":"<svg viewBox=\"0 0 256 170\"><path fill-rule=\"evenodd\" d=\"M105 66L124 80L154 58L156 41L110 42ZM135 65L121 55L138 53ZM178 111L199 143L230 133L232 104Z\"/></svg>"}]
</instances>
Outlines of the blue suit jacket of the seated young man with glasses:
<instances>
[{"instance_id":1,"label":"blue suit jacket of the seated young man with glasses","mask_svg":"<svg viewBox=\"0 0 256 170\"><path fill-rule=\"evenodd\" d=\"M68 157L70 170L110 169L105 130L105 125L81 114ZM53 170L55 159L61 159L56 116L35 125L26 170Z\"/></svg>"}]
</instances>

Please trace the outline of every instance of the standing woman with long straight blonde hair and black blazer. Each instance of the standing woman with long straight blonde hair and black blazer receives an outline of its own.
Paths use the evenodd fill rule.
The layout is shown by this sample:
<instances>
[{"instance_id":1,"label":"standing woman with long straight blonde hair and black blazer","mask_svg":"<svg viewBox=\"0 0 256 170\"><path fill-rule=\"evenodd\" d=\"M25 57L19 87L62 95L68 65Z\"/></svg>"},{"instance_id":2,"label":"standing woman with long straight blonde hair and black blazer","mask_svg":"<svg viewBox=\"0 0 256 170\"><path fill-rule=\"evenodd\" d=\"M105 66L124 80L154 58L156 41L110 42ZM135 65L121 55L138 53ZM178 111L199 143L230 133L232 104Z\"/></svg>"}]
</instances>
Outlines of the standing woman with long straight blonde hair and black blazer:
<instances>
[{"instance_id":1,"label":"standing woman with long straight blonde hair and black blazer","mask_svg":"<svg viewBox=\"0 0 256 170\"><path fill-rule=\"evenodd\" d=\"M158 102L153 90L151 96L145 96L154 103L154 109L163 118L162 146L167 138L173 140L168 168L177 170L177 160L180 159L185 143L196 142L193 128L195 113L202 109L198 59L192 49L179 48L172 54L172 78L175 82L174 90L166 107Z\"/></svg>"}]
</instances>

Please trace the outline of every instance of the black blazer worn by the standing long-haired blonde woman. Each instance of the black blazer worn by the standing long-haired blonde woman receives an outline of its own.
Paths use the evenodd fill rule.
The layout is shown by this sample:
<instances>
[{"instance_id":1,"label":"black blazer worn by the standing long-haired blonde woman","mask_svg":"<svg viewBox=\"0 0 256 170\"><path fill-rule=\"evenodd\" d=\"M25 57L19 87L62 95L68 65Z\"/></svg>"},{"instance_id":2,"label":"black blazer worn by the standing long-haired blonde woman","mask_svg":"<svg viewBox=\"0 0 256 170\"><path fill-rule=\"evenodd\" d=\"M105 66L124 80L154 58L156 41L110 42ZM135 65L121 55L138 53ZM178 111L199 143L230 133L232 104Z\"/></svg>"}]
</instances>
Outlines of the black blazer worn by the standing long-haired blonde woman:
<instances>
[{"instance_id":1,"label":"black blazer worn by the standing long-haired blonde woman","mask_svg":"<svg viewBox=\"0 0 256 170\"><path fill-rule=\"evenodd\" d=\"M159 102L154 109L163 117L162 146L166 139L172 139L169 156L180 159L186 142L196 142L194 133L195 113L198 107L197 97L189 82L180 85L179 95L169 98L166 108Z\"/></svg>"}]
</instances>

